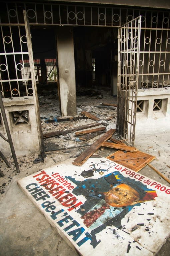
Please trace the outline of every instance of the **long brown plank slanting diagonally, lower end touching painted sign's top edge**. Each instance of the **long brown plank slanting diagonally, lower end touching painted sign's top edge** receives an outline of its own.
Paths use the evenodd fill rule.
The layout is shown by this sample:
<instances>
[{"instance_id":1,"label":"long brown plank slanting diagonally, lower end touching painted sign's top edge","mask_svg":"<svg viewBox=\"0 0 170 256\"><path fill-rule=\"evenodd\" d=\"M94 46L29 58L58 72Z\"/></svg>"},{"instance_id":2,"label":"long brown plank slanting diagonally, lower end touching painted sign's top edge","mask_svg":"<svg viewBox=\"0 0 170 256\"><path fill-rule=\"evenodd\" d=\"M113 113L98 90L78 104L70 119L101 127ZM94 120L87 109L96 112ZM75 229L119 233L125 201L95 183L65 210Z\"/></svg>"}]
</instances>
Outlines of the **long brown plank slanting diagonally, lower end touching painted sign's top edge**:
<instances>
[{"instance_id":1,"label":"long brown plank slanting diagonally, lower end touching painted sign's top edge","mask_svg":"<svg viewBox=\"0 0 170 256\"><path fill-rule=\"evenodd\" d=\"M116 132L116 129L110 129L107 131L102 137L100 137L97 141L94 142L92 146L90 146L87 150L85 150L80 156L74 159L72 162L73 165L81 166L86 160L95 153L97 149L100 148L101 144L108 140L113 133Z\"/></svg>"}]
</instances>

